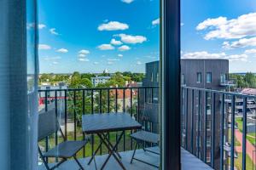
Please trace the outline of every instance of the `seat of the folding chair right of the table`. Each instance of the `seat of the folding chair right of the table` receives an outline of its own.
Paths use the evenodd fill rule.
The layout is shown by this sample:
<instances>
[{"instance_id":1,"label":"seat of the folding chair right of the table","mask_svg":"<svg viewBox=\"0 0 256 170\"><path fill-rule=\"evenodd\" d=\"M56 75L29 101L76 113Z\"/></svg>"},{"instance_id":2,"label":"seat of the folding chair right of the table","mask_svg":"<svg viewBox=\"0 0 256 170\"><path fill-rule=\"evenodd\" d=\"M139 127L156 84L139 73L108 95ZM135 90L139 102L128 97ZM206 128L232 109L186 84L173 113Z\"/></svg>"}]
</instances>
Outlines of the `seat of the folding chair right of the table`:
<instances>
[{"instance_id":1,"label":"seat of the folding chair right of the table","mask_svg":"<svg viewBox=\"0 0 256 170\"><path fill-rule=\"evenodd\" d=\"M160 135L157 133L150 133L150 132L141 130L136 133L132 133L131 138L137 139L137 140L142 140L145 142L150 142L153 144L158 144L158 142L160 140Z\"/></svg>"}]
</instances>

